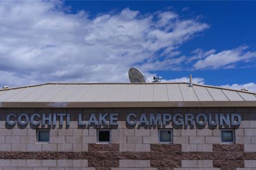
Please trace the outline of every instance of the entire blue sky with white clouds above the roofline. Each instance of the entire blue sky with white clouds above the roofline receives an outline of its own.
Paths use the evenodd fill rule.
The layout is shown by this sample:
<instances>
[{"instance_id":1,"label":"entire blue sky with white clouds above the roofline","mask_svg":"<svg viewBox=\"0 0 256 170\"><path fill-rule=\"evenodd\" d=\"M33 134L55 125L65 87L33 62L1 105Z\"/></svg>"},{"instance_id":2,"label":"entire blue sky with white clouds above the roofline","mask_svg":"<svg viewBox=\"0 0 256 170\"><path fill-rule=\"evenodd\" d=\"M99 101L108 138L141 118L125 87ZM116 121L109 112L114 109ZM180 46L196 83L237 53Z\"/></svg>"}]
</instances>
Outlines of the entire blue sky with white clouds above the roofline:
<instances>
[{"instance_id":1,"label":"entire blue sky with white clouds above the roofline","mask_svg":"<svg viewBox=\"0 0 256 170\"><path fill-rule=\"evenodd\" d=\"M1 85L128 82L129 67L137 66L149 79L186 82L192 73L196 83L256 91L256 2L0 6Z\"/></svg>"}]
</instances>

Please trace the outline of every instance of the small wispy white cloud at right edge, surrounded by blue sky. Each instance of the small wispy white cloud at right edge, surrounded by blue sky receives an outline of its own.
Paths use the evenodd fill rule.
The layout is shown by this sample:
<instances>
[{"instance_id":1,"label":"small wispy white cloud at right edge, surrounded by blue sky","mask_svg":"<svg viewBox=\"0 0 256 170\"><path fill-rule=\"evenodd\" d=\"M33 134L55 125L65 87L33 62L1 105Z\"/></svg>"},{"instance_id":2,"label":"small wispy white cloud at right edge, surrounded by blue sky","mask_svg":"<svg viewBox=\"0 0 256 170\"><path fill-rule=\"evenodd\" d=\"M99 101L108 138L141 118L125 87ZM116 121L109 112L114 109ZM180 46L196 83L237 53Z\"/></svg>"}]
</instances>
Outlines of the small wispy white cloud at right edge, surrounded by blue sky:
<instances>
[{"instance_id":1,"label":"small wispy white cloud at right edge, surrounded by blue sky","mask_svg":"<svg viewBox=\"0 0 256 170\"><path fill-rule=\"evenodd\" d=\"M207 52L204 54L199 53L198 58L203 59L197 61L193 66L195 69L235 68L235 64L239 62L247 62L251 58L256 58L256 51L246 51L247 48L247 46L240 46L236 49L224 50L216 54L214 54L214 50L211 53L207 51L208 54Z\"/></svg>"}]
</instances>

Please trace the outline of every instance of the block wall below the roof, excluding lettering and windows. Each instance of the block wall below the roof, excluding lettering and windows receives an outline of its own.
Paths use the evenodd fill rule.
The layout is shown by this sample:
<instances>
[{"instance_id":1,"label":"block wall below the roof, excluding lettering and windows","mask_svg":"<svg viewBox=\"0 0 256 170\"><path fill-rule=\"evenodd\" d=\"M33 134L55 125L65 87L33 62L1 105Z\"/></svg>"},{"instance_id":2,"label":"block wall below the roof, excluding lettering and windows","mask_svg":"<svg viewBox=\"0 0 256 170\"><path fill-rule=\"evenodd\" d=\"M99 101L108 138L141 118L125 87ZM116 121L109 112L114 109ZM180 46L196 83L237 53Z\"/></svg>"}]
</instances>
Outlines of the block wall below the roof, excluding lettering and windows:
<instances>
[{"instance_id":1,"label":"block wall below the roof, excluding lettering and windows","mask_svg":"<svg viewBox=\"0 0 256 170\"><path fill-rule=\"evenodd\" d=\"M71 121L62 127L9 127L5 122L9 113L70 113ZM93 126L78 127L78 113L120 113L120 125L110 127L111 143L96 143ZM219 127L172 124L164 128L173 130L173 143L159 144L158 127L129 127L128 113L239 113L242 121L239 127L228 127L235 129L234 144L221 144ZM51 128L50 143L37 143L38 128ZM256 169L256 108L0 109L0 169L252 170Z\"/></svg>"}]
</instances>

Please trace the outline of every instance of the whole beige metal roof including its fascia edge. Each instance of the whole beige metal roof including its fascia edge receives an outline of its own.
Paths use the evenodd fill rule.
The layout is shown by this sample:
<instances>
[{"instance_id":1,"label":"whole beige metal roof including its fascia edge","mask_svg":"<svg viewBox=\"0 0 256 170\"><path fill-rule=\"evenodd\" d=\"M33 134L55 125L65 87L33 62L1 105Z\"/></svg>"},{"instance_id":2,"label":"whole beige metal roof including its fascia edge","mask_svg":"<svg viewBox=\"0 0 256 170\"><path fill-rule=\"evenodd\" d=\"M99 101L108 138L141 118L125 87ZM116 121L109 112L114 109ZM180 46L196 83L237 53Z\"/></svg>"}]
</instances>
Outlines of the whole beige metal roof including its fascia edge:
<instances>
[{"instance_id":1,"label":"whole beige metal roof including its fascia edge","mask_svg":"<svg viewBox=\"0 0 256 170\"><path fill-rule=\"evenodd\" d=\"M0 90L1 108L256 106L256 93L188 83L46 83Z\"/></svg>"}]
</instances>

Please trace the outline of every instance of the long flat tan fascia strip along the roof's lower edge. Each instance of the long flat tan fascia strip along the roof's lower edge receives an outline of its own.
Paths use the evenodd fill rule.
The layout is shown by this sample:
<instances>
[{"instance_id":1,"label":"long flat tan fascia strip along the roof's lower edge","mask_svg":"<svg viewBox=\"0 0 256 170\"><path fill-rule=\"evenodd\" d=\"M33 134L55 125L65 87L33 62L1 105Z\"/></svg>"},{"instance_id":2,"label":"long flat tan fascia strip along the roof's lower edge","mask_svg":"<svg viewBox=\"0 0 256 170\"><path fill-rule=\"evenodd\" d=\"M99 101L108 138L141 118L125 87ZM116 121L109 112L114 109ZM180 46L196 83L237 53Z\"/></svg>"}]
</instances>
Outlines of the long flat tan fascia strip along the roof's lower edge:
<instances>
[{"instance_id":1,"label":"long flat tan fascia strip along the roof's lower edge","mask_svg":"<svg viewBox=\"0 0 256 170\"><path fill-rule=\"evenodd\" d=\"M0 108L198 108L252 106L256 106L256 101L0 102Z\"/></svg>"}]
</instances>

